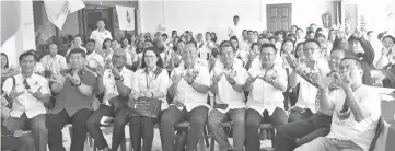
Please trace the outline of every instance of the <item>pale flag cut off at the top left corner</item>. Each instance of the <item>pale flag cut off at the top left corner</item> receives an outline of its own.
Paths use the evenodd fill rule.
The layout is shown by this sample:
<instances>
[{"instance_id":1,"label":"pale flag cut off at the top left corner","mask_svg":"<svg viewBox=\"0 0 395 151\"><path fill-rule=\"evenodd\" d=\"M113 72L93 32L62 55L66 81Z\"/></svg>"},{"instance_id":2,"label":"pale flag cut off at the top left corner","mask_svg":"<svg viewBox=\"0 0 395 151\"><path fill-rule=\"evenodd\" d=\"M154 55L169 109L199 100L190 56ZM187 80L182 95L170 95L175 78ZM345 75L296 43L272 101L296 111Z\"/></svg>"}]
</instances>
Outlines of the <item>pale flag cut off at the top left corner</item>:
<instances>
[{"instance_id":1,"label":"pale flag cut off at the top left corner","mask_svg":"<svg viewBox=\"0 0 395 151\"><path fill-rule=\"evenodd\" d=\"M12 18L9 18L12 16ZM1 2L1 46L12 37L21 25L21 8L20 1L2 1Z\"/></svg>"}]
</instances>

